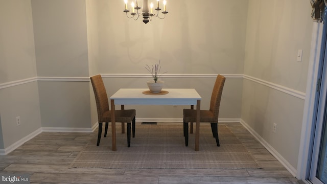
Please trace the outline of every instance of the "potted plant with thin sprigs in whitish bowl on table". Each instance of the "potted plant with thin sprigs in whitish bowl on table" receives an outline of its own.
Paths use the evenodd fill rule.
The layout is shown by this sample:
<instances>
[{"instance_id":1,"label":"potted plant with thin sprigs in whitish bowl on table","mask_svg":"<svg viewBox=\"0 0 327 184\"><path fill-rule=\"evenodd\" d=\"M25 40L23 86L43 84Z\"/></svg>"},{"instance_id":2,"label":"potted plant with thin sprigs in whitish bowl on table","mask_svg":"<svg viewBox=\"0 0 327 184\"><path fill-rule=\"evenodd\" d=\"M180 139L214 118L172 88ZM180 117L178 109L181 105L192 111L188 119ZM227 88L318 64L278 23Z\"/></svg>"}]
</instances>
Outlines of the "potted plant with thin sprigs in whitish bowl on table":
<instances>
[{"instance_id":1,"label":"potted plant with thin sprigs in whitish bowl on table","mask_svg":"<svg viewBox=\"0 0 327 184\"><path fill-rule=\"evenodd\" d=\"M153 78L153 80L147 82L151 93L160 93L160 91L162 89L162 85L164 85L164 81L160 81L158 79L162 74L167 73L167 72L164 72L162 74L159 74L160 70L161 70L160 60L157 64L152 65L152 67L150 67L149 65L146 65L145 68L150 72L150 74Z\"/></svg>"}]
</instances>

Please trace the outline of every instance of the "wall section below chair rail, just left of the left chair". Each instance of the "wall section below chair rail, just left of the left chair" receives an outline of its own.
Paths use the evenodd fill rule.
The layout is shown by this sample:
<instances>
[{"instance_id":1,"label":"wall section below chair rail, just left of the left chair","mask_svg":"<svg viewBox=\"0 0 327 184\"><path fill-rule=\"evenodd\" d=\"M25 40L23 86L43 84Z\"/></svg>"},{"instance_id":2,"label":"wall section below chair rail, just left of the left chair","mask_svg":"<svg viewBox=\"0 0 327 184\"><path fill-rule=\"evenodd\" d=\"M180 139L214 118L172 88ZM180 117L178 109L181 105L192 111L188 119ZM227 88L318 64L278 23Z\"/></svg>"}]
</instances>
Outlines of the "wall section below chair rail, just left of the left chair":
<instances>
[{"instance_id":1,"label":"wall section below chair rail, just left of the left chair","mask_svg":"<svg viewBox=\"0 0 327 184\"><path fill-rule=\"evenodd\" d=\"M88 82L38 83L42 127L91 127Z\"/></svg>"}]
</instances>

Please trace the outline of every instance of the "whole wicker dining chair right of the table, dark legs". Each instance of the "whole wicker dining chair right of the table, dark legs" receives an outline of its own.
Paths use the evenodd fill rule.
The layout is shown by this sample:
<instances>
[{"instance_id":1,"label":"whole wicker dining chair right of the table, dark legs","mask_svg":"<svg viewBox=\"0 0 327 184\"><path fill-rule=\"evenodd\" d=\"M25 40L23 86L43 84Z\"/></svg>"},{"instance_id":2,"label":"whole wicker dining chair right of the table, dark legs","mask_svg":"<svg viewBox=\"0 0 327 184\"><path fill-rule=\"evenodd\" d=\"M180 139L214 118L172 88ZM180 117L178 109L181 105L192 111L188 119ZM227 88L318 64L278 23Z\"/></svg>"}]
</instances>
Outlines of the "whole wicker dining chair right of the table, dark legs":
<instances>
[{"instance_id":1,"label":"whole wicker dining chair right of the table, dark legs","mask_svg":"<svg viewBox=\"0 0 327 184\"><path fill-rule=\"evenodd\" d=\"M225 77L218 75L211 95L209 110L200 110L200 122L211 123L211 129L216 138L217 146L220 146L218 139L218 114L224 83ZM192 107L191 109L183 109L185 146L189 145L189 123L193 124L193 122L196 122L196 110Z\"/></svg>"}]
</instances>

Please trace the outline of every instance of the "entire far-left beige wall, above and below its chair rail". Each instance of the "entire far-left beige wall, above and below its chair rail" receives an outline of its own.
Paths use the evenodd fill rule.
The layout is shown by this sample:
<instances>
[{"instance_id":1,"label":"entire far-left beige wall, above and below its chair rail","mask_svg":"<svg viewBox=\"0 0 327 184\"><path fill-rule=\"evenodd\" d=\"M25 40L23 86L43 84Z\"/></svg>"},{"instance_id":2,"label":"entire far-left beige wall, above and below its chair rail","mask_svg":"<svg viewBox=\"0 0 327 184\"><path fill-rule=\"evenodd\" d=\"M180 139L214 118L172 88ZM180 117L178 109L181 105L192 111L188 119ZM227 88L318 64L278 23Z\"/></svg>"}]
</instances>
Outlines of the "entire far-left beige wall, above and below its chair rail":
<instances>
[{"instance_id":1,"label":"entire far-left beige wall, above and below its chair rail","mask_svg":"<svg viewBox=\"0 0 327 184\"><path fill-rule=\"evenodd\" d=\"M0 149L41 127L31 2L0 1ZM16 125L16 117L21 125Z\"/></svg>"}]
</instances>

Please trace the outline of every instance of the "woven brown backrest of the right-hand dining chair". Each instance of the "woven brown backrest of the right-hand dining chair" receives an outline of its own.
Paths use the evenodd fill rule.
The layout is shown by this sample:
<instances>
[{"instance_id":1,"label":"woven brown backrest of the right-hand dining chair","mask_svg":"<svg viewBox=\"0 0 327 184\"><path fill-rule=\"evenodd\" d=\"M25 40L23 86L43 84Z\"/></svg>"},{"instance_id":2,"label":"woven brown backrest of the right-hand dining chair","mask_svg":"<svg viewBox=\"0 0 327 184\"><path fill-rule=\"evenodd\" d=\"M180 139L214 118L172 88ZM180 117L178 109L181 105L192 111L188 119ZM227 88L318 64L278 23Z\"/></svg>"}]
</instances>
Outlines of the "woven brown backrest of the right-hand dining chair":
<instances>
[{"instance_id":1,"label":"woven brown backrest of the right-hand dining chair","mask_svg":"<svg viewBox=\"0 0 327 184\"><path fill-rule=\"evenodd\" d=\"M217 119L217 121L218 121L218 114L219 114L220 99L223 93L225 79L226 78L222 75L217 76L213 93L211 95L211 100L210 100L209 110L214 113L214 118Z\"/></svg>"}]
</instances>

